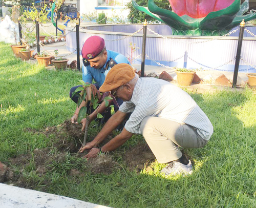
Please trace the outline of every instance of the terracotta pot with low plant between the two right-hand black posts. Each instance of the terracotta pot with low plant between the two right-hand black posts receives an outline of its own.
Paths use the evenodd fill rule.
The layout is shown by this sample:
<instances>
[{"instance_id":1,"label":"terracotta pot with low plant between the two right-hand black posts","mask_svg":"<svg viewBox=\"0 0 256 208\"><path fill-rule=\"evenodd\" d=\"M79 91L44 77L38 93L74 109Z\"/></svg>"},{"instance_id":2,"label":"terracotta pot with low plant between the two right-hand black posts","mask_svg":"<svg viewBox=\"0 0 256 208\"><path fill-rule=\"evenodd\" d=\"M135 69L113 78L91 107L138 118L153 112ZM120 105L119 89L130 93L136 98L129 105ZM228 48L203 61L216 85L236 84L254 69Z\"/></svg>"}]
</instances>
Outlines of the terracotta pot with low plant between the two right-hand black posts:
<instances>
[{"instance_id":1,"label":"terracotta pot with low plant between the two right-hand black posts","mask_svg":"<svg viewBox=\"0 0 256 208\"><path fill-rule=\"evenodd\" d=\"M189 86L191 85L193 78L196 74L195 70L190 70L186 68L176 68L178 84L180 86Z\"/></svg>"}]
</instances>

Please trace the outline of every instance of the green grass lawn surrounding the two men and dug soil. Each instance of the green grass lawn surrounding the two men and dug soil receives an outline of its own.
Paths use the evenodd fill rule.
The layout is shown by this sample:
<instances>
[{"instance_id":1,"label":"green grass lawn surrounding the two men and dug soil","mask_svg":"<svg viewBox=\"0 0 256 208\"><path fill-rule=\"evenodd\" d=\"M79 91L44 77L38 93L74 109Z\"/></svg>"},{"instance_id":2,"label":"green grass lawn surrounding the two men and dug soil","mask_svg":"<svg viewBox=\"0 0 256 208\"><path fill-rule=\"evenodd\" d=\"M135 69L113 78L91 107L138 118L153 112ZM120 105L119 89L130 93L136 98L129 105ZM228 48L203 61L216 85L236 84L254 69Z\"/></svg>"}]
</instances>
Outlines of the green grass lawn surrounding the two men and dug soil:
<instances>
[{"instance_id":1,"label":"green grass lawn surrounding the two men and dug soil","mask_svg":"<svg viewBox=\"0 0 256 208\"><path fill-rule=\"evenodd\" d=\"M51 148L54 138L36 131L70 119L76 108L69 90L81 79L80 72L49 71L14 57L7 44L0 43L0 161ZM33 163L22 175L33 189L112 207L256 207L256 98L250 89L214 94L190 92L214 126L214 134L202 149L184 150L195 162L193 175L167 177L164 164L154 162L152 171L122 168L112 174L92 174L87 161L67 154L40 176ZM94 130L90 130L95 134ZM89 132L90 133L90 132ZM118 151L143 141L134 136ZM57 150L53 149L53 152ZM15 167L11 167L15 169ZM82 174L71 177L76 168ZM45 183L47 182L47 185Z\"/></svg>"}]
</instances>

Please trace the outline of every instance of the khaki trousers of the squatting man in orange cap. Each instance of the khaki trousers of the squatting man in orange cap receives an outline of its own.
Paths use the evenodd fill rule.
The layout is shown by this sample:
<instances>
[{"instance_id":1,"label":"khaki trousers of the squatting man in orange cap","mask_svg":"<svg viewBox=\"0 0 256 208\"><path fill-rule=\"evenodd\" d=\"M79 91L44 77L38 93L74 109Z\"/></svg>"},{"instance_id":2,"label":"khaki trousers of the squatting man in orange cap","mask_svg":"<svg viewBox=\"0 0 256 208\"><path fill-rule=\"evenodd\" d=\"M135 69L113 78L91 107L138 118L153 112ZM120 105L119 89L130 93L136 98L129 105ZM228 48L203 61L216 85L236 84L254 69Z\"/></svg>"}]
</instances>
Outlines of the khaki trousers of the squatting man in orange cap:
<instances>
[{"instance_id":1,"label":"khaki trousers of the squatting man in orange cap","mask_svg":"<svg viewBox=\"0 0 256 208\"><path fill-rule=\"evenodd\" d=\"M159 117L145 117L140 130L159 163L179 159L179 147L202 148L207 143L194 127Z\"/></svg>"}]
</instances>

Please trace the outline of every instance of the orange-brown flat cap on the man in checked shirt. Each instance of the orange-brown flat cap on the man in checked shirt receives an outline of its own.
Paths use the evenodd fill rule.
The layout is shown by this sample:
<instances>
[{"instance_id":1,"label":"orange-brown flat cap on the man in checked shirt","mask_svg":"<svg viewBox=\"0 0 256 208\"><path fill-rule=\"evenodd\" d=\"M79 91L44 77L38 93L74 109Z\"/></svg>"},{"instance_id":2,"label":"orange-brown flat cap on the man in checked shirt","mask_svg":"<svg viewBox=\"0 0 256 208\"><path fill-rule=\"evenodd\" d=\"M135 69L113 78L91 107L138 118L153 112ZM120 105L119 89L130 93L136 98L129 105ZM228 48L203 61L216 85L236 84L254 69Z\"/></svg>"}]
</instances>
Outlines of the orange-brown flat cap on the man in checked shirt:
<instances>
[{"instance_id":1,"label":"orange-brown flat cap on the man in checked shirt","mask_svg":"<svg viewBox=\"0 0 256 208\"><path fill-rule=\"evenodd\" d=\"M134 69L129 64L117 64L106 75L103 85L99 88L100 92L114 90L135 77Z\"/></svg>"}]
</instances>

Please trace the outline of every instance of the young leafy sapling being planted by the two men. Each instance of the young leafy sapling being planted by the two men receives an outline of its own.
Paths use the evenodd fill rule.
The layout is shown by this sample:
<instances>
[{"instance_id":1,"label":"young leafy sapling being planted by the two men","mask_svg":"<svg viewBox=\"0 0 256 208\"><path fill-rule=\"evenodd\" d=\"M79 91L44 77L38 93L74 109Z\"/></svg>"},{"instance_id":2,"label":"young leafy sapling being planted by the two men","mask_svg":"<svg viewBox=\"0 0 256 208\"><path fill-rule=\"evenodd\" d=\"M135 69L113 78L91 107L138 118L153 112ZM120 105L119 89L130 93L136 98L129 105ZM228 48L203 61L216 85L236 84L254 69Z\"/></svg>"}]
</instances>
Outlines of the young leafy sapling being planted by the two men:
<instances>
[{"instance_id":1,"label":"young leafy sapling being planted by the two men","mask_svg":"<svg viewBox=\"0 0 256 208\"><path fill-rule=\"evenodd\" d=\"M97 113L97 118L103 118L103 116L98 112L99 107L102 105L103 101L105 102L105 107L109 106L109 100L113 100L115 105L118 106L118 103L115 97L111 92L100 93L99 90L93 84L85 83L83 80L79 80L79 83L82 84L82 87L78 87L72 94L72 97L77 95L79 96L77 107L79 108L82 101L85 102L85 105L80 108L77 122L80 123L82 119L86 118L86 127L84 129L84 138L82 147L86 145L88 127L91 122L90 112L94 109ZM89 108L89 109L88 109Z\"/></svg>"}]
</instances>

